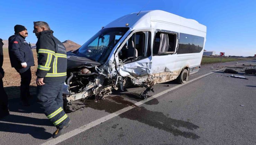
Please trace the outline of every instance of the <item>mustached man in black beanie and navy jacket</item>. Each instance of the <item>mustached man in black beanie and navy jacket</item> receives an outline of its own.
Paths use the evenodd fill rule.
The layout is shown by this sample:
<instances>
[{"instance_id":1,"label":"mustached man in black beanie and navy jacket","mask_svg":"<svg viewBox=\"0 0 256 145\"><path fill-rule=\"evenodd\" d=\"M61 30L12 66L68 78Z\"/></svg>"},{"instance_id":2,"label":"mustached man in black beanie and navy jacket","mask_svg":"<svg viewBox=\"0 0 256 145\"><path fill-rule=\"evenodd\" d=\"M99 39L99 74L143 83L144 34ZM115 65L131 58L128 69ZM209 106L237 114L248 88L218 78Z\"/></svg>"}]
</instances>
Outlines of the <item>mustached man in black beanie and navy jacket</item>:
<instances>
[{"instance_id":1,"label":"mustached man in black beanie and navy jacket","mask_svg":"<svg viewBox=\"0 0 256 145\"><path fill-rule=\"evenodd\" d=\"M29 106L30 98L29 85L31 81L30 66L34 66L33 52L25 38L28 36L26 27L22 25L14 26L15 35L9 37L9 56L11 67L19 72L20 82L20 99L23 106Z\"/></svg>"}]
</instances>

